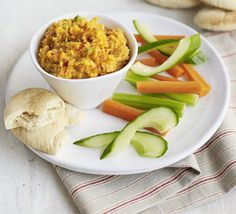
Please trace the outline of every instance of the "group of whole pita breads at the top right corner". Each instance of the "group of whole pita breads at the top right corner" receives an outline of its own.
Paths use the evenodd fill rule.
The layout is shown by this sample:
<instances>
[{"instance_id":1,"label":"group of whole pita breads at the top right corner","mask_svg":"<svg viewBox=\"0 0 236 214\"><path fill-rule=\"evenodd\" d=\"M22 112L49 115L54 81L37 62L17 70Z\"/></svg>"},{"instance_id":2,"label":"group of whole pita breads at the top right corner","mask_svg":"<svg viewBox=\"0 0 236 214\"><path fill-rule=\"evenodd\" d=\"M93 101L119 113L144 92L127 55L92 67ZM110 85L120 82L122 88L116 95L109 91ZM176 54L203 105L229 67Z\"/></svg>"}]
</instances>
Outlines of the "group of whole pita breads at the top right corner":
<instances>
[{"instance_id":1,"label":"group of whole pita breads at the top right corner","mask_svg":"<svg viewBox=\"0 0 236 214\"><path fill-rule=\"evenodd\" d=\"M212 31L236 30L236 0L146 0L171 9L202 8L194 17L200 28Z\"/></svg>"}]
</instances>

